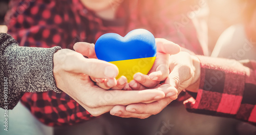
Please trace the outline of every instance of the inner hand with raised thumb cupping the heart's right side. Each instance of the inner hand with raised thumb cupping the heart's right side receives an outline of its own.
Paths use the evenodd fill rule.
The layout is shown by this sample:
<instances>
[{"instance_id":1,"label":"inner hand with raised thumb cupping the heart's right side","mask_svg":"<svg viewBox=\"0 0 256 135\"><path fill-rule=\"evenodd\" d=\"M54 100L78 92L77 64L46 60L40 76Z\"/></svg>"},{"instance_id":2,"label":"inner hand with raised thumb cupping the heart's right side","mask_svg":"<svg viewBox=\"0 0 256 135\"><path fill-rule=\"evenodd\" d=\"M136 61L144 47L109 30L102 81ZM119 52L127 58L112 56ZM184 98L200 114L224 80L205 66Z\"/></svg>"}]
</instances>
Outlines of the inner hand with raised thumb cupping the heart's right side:
<instances>
[{"instance_id":1,"label":"inner hand with raised thumb cupping the heart's right side","mask_svg":"<svg viewBox=\"0 0 256 135\"><path fill-rule=\"evenodd\" d=\"M177 54L181 48L178 44L164 38L156 38L157 56L148 75L136 73L134 80L129 83L132 89L155 87L169 75L169 55ZM126 88L126 87L125 87Z\"/></svg>"}]
</instances>

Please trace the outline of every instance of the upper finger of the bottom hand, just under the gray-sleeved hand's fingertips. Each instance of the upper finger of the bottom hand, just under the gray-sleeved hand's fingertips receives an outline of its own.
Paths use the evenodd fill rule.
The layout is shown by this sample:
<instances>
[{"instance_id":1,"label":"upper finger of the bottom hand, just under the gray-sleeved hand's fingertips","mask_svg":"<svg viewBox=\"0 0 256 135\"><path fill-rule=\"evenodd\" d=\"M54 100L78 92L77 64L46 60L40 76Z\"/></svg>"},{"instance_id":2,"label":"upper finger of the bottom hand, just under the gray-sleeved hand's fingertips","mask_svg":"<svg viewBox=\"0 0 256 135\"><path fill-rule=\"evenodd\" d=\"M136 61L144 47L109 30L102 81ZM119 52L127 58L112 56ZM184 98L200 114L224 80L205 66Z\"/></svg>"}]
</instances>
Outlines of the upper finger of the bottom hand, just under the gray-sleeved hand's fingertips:
<instances>
[{"instance_id":1,"label":"upper finger of the bottom hand, just under the gray-sleeved hand's fingertips","mask_svg":"<svg viewBox=\"0 0 256 135\"><path fill-rule=\"evenodd\" d=\"M156 115L162 111L164 107L166 107L170 102L172 102L170 98L164 98L149 104L137 103L130 104L126 106L126 111L135 114L151 114Z\"/></svg>"}]
</instances>

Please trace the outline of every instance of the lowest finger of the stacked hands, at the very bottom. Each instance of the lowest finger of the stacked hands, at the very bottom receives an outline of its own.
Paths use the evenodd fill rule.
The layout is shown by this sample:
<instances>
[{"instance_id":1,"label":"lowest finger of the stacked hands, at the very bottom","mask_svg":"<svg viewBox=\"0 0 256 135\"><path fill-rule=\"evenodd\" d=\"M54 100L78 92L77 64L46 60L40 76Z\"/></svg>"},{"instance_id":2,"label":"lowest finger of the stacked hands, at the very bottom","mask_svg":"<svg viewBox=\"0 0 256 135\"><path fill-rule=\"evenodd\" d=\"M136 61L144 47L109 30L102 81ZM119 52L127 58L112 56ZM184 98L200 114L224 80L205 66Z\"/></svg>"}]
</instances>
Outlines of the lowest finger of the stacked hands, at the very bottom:
<instances>
[{"instance_id":1,"label":"lowest finger of the stacked hands, at the very bottom","mask_svg":"<svg viewBox=\"0 0 256 135\"><path fill-rule=\"evenodd\" d=\"M146 119L150 117L150 114L136 114L125 110L125 106L117 105L110 110L110 114L122 118L139 118Z\"/></svg>"}]
</instances>

